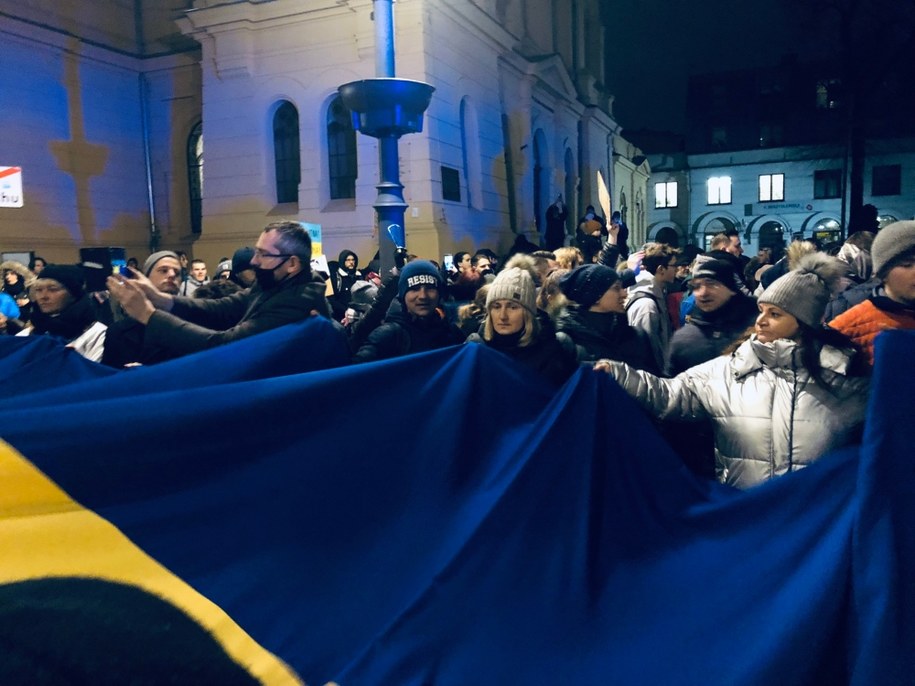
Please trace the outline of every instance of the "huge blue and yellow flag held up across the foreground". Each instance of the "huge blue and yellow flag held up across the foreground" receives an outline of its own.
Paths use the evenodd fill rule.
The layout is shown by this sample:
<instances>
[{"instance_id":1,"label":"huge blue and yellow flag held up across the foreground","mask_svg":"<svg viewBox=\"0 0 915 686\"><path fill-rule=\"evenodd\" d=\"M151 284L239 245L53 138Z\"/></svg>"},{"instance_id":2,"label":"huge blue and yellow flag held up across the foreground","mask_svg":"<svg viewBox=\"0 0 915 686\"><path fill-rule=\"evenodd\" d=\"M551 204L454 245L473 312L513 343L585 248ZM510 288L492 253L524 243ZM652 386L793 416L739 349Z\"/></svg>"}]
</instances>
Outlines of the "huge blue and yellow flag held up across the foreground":
<instances>
[{"instance_id":1,"label":"huge blue and yellow flag held up across the foreground","mask_svg":"<svg viewBox=\"0 0 915 686\"><path fill-rule=\"evenodd\" d=\"M911 681L913 342L878 340L864 445L747 492L694 477L608 376L554 392L484 346L23 395L0 412L0 619L38 593L17 584L89 579L268 683Z\"/></svg>"}]
</instances>

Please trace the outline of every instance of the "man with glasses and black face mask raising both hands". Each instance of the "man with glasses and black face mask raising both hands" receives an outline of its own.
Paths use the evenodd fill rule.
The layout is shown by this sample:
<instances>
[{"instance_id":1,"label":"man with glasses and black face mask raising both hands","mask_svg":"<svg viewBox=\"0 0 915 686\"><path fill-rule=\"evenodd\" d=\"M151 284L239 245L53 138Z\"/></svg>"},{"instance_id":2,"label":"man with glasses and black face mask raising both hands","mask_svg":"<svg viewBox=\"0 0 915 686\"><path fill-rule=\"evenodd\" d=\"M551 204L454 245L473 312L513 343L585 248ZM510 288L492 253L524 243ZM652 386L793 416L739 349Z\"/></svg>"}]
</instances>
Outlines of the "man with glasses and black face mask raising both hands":
<instances>
[{"instance_id":1,"label":"man with glasses and black face mask raising both hands","mask_svg":"<svg viewBox=\"0 0 915 686\"><path fill-rule=\"evenodd\" d=\"M218 300L162 293L140 272L134 272L133 279L109 277L108 289L131 318L146 326L146 342L175 356L313 314L330 316L324 282L311 274L311 238L298 222L268 224L257 239L251 267L257 279L254 286Z\"/></svg>"}]
</instances>

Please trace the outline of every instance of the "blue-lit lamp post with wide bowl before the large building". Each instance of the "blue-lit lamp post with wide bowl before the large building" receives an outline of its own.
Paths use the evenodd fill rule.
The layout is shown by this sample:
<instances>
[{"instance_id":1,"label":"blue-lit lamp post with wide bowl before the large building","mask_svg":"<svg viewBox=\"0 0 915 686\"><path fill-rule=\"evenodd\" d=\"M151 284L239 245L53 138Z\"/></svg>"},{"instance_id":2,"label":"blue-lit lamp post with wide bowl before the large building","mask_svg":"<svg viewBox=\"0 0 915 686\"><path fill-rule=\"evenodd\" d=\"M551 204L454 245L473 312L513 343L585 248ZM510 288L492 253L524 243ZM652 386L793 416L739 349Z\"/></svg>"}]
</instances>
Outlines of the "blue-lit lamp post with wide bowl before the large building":
<instances>
[{"instance_id":1,"label":"blue-lit lamp post with wide bowl before the large building","mask_svg":"<svg viewBox=\"0 0 915 686\"><path fill-rule=\"evenodd\" d=\"M394 266L395 249L406 247L404 216L407 204L400 183L397 141L423 129L423 112L435 89L421 81L394 76L393 0L374 0L375 71L377 78L346 83L340 98L353 116L353 127L379 141L379 182L375 211L382 273Z\"/></svg>"}]
</instances>

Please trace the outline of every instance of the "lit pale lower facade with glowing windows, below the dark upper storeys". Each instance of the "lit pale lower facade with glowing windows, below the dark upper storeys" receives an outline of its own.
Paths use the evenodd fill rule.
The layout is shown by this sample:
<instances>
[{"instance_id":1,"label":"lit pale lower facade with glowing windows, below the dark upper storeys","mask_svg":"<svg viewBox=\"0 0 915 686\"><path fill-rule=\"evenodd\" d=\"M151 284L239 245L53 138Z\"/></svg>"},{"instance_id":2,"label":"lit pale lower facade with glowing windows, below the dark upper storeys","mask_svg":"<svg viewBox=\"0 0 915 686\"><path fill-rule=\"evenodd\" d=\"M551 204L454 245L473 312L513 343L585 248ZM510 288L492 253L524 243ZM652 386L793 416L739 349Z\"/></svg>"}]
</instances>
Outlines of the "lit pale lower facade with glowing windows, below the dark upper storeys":
<instances>
[{"instance_id":1,"label":"lit pale lower facade with glowing windows, below the dark upper storeys","mask_svg":"<svg viewBox=\"0 0 915 686\"><path fill-rule=\"evenodd\" d=\"M841 239L844 158L835 146L651 155L649 240L705 249L728 229L744 249ZM868 145L864 202L885 224L915 217L915 138Z\"/></svg>"}]
</instances>

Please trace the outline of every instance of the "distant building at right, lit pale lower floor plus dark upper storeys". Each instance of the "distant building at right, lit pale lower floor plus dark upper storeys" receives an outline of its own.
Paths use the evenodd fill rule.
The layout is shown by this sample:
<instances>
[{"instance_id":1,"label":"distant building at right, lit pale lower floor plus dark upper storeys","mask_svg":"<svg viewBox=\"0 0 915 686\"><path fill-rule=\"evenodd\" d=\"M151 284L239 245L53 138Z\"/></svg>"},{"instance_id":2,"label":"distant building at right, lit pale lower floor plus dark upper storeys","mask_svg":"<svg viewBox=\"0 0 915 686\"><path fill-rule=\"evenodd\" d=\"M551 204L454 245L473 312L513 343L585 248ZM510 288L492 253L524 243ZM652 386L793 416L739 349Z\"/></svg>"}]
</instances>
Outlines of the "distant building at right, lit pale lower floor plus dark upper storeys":
<instances>
[{"instance_id":1,"label":"distant building at right, lit pale lower floor plus dark upper storeys","mask_svg":"<svg viewBox=\"0 0 915 686\"><path fill-rule=\"evenodd\" d=\"M685 146L649 155L648 237L705 248L737 229L753 252L796 237L840 240L850 159L830 69L789 60L692 79ZM881 223L915 216L915 125L903 106L912 93L902 90L880 89L864 142L862 200Z\"/></svg>"}]
</instances>

